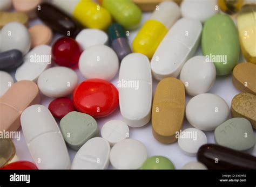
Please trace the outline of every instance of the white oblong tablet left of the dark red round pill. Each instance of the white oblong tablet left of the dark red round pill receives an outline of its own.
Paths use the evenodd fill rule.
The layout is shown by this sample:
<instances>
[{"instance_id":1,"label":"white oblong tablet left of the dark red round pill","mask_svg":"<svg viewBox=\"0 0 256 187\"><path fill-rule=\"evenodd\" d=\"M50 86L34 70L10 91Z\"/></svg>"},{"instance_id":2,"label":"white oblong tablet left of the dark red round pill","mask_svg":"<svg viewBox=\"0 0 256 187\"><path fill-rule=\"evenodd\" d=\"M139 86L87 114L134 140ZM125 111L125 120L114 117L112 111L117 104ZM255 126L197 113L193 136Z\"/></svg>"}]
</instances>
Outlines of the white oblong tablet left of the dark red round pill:
<instances>
[{"instance_id":1,"label":"white oblong tablet left of the dark red round pill","mask_svg":"<svg viewBox=\"0 0 256 187\"><path fill-rule=\"evenodd\" d=\"M24 56L23 64L17 68L17 81L29 80L37 82L39 75L51 66L51 47L39 45Z\"/></svg>"}]
</instances>

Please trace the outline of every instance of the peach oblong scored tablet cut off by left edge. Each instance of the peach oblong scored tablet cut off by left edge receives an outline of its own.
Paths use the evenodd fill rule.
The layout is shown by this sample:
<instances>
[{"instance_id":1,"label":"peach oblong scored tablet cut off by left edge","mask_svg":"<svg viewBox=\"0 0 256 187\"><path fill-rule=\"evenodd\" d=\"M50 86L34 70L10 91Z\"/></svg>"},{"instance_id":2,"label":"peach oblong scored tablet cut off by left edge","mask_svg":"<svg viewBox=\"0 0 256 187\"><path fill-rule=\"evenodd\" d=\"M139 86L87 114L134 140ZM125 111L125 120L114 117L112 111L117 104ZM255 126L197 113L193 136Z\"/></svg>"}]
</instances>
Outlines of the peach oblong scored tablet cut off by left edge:
<instances>
[{"instance_id":1,"label":"peach oblong scored tablet cut off by left edge","mask_svg":"<svg viewBox=\"0 0 256 187\"><path fill-rule=\"evenodd\" d=\"M21 113L26 107L39 104L36 83L18 81L0 98L0 131L17 131L21 126Z\"/></svg>"}]
</instances>

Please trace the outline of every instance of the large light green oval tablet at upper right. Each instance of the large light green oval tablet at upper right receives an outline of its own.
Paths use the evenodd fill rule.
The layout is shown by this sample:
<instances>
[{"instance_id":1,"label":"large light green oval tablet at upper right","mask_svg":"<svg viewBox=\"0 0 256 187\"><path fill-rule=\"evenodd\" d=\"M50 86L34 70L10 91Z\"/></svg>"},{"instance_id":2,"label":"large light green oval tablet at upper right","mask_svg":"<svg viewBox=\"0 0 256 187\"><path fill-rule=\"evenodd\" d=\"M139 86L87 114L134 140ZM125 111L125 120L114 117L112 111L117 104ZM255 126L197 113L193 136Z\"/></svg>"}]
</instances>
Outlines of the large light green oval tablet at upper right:
<instances>
[{"instance_id":1,"label":"large light green oval tablet at upper right","mask_svg":"<svg viewBox=\"0 0 256 187\"><path fill-rule=\"evenodd\" d=\"M233 20L217 14L203 27L201 46L208 61L214 62L217 75L230 74L239 60L238 31Z\"/></svg>"}]
</instances>

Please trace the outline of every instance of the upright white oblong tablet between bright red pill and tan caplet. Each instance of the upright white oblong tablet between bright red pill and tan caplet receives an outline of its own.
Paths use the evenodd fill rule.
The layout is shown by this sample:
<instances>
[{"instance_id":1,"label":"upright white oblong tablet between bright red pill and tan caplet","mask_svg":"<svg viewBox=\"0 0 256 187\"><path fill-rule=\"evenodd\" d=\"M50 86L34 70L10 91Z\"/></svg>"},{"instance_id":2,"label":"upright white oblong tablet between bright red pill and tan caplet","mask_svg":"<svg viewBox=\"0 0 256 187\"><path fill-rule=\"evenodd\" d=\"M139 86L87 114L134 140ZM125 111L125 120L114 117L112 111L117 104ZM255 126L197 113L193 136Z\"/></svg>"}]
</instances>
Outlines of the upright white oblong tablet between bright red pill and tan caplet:
<instances>
[{"instance_id":1,"label":"upright white oblong tablet between bright red pill and tan caplet","mask_svg":"<svg viewBox=\"0 0 256 187\"><path fill-rule=\"evenodd\" d=\"M119 72L119 106L130 127L146 125L151 118L152 76L149 59L140 53L124 57Z\"/></svg>"}]
</instances>

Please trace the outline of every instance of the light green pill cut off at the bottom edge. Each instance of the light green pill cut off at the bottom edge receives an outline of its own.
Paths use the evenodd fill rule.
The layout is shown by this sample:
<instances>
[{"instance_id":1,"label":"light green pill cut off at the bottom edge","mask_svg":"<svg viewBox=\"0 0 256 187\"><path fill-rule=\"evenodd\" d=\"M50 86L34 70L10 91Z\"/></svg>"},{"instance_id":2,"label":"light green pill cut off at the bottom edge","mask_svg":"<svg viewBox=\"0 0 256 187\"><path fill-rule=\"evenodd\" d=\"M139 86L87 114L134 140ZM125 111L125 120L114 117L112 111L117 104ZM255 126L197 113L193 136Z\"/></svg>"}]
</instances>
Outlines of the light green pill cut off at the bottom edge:
<instances>
[{"instance_id":1,"label":"light green pill cut off at the bottom edge","mask_svg":"<svg viewBox=\"0 0 256 187\"><path fill-rule=\"evenodd\" d=\"M152 156L147 159L140 169L175 169L173 163L164 156Z\"/></svg>"}]
</instances>

